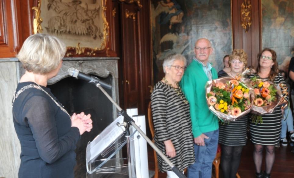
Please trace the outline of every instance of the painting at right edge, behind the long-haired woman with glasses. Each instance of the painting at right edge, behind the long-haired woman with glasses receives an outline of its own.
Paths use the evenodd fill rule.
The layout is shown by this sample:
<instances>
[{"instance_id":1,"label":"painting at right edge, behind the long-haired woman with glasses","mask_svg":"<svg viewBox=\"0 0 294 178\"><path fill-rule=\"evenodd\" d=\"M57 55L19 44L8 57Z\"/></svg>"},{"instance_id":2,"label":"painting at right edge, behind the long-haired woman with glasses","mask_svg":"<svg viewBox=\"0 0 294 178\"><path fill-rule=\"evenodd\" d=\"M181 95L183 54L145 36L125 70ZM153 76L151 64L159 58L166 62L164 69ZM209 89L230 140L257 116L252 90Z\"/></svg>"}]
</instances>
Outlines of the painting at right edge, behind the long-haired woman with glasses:
<instances>
[{"instance_id":1,"label":"painting at right edge, behind the long-haired woman with glasses","mask_svg":"<svg viewBox=\"0 0 294 178\"><path fill-rule=\"evenodd\" d=\"M287 71L294 52L294 0L262 0L262 48L277 53L279 68Z\"/></svg>"}]
</instances>

